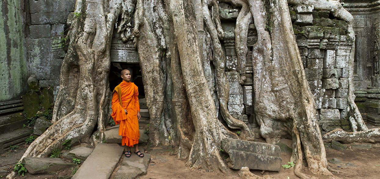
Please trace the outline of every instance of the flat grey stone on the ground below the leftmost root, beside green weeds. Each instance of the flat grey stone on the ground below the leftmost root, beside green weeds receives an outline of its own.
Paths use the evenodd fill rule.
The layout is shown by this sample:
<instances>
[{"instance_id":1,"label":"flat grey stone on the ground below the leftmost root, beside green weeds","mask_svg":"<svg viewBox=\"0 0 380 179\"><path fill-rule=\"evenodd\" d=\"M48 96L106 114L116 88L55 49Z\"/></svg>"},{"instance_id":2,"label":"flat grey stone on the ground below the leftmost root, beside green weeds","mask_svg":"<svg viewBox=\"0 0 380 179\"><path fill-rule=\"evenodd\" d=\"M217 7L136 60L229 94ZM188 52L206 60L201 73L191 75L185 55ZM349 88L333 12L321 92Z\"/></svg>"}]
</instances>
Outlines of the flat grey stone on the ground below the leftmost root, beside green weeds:
<instances>
[{"instance_id":1,"label":"flat grey stone on the ground below the leftmost root, beside green weeds","mask_svg":"<svg viewBox=\"0 0 380 179\"><path fill-rule=\"evenodd\" d=\"M75 163L62 161L60 158L25 157L22 159L25 168L31 174L56 174L76 166Z\"/></svg>"}]
</instances>

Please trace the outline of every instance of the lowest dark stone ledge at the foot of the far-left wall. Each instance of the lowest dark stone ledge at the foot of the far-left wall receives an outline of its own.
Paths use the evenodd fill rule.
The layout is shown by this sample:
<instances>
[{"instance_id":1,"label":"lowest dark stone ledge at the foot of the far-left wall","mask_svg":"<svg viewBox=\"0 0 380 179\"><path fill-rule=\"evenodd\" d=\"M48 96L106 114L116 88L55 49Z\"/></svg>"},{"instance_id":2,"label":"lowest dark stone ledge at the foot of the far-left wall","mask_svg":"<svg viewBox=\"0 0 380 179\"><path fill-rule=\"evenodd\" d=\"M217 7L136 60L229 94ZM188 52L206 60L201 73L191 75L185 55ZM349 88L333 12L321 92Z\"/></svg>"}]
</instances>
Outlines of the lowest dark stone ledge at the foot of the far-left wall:
<instances>
[{"instance_id":1,"label":"lowest dark stone ledge at the foot of the far-left wall","mask_svg":"<svg viewBox=\"0 0 380 179\"><path fill-rule=\"evenodd\" d=\"M24 144L26 138L28 138L33 131L28 129L16 129L9 133L0 134L0 153L4 153L8 150L10 145L16 146Z\"/></svg>"}]
</instances>

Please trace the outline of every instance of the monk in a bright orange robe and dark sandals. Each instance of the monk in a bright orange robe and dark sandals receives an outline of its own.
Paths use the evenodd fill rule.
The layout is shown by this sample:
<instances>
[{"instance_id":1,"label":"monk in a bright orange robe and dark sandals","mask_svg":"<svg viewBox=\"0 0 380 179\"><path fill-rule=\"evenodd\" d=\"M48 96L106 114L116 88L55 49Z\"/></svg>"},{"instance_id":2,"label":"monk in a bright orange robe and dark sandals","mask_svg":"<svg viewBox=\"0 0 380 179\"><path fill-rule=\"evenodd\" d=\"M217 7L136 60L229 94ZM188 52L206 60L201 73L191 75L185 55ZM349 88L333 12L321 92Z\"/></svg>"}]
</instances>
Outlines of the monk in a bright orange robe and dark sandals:
<instances>
[{"instance_id":1,"label":"monk in a bright orange robe and dark sandals","mask_svg":"<svg viewBox=\"0 0 380 179\"><path fill-rule=\"evenodd\" d=\"M131 147L135 147L134 153L144 157L138 148L140 131L140 104L139 92L135 83L131 83L131 72L124 69L120 72L123 81L117 85L112 94L112 118L115 124L120 124L119 136L122 136L122 145L127 145L125 157L131 157Z\"/></svg>"}]
</instances>

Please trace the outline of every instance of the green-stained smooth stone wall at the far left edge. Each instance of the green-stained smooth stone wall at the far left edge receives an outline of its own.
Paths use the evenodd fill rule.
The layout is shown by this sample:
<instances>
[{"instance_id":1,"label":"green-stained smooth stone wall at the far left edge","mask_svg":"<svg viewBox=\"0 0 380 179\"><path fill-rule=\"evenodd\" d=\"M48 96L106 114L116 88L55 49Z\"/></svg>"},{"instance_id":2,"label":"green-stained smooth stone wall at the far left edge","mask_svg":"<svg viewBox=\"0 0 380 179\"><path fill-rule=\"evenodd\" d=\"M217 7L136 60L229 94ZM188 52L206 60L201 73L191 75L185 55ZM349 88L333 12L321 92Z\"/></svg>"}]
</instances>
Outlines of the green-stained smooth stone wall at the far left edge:
<instances>
[{"instance_id":1,"label":"green-stained smooth stone wall at the far left edge","mask_svg":"<svg viewBox=\"0 0 380 179\"><path fill-rule=\"evenodd\" d=\"M0 4L0 102L16 99L27 90L24 54L23 1L3 0Z\"/></svg>"}]
</instances>

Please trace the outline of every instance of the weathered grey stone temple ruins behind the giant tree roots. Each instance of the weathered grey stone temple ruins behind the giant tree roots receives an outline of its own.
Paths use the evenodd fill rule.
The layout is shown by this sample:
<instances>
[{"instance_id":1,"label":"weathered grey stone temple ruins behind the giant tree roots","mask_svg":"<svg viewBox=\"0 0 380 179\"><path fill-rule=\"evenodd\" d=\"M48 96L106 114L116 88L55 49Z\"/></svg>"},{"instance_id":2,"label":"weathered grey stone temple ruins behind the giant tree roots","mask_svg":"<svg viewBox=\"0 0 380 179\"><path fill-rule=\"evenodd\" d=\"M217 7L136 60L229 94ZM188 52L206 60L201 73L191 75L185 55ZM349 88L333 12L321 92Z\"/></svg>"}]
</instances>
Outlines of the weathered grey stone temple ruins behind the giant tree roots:
<instances>
[{"instance_id":1,"label":"weathered grey stone temple ruins behind the giant tree roots","mask_svg":"<svg viewBox=\"0 0 380 179\"><path fill-rule=\"evenodd\" d=\"M47 109L54 101L59 90L60 67L67 50L65 34L76 18L73 13L75 0L7 2L1 4L3 19L0 20L3 24L0 26L0 134L25 124L24 117L19 115L23 110L37 112L35 106ZM355 51L355 102L364 121L380 125L380 51L375 41L380 30L380 3L374 0L341 0L341 3L353 15L356 40L347 36L347 23L329 11L317 11L313 6L289 7L306 77L315 96L316 116L322 133L335 128L350 130L347 95L351 50ZM249 26L247 80L241 85L234 42L240 9L228 3L219 3L219 8L225 31L222 41L227 59L225 72L230 84L228 110L233 117L254 128L257 122L253 110L252 46L258 38L255 24ZM110 88L120 82L121 69L130 69L143 98L144 85L134 43L123 42L120 34L114 32L110 53ZM20 98L25 95L37 102Z\"/></svg>"}]
</instances>

